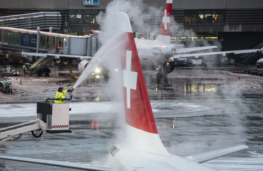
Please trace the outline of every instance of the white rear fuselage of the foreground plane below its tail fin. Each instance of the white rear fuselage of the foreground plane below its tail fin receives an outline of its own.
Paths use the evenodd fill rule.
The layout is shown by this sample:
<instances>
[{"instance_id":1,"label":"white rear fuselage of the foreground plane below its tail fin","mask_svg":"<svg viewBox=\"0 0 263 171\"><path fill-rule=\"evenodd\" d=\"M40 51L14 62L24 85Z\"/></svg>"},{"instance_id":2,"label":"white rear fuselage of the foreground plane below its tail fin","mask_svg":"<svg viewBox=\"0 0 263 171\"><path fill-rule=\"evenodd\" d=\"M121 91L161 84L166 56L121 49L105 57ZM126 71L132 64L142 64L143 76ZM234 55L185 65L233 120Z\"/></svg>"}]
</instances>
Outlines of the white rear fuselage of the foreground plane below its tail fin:
<instances>
[{"instance_id":1,"label":"white rear fuselage of the foreground plane below its tail fin","mask_svg":"<svg viewBox=\"0 0 263 171\"><path fill-rule=\"evenodd\" d=\"M171 154L171 156L164 156L137 151L132 148L120 149L113 157L109 154L108 162L110 166L119 169L120 171L216 171L216 169L174 154Z\"/></svg>"}]
</instances>

